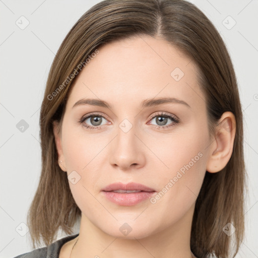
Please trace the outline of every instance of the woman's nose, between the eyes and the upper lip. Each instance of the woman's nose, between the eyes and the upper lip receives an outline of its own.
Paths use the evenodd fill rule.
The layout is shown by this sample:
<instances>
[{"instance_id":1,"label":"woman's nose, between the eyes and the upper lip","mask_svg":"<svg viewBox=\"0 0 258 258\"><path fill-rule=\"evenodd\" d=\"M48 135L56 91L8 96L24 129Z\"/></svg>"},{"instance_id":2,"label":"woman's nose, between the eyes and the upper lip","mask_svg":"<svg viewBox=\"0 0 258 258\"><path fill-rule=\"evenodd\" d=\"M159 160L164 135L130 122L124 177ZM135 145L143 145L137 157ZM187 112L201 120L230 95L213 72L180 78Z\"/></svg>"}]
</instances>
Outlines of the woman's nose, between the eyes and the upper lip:
<instances>
[{"instance_id":1,"label":"woman's nose, between the eyes and the upper lip","mask_svg":"<svg viewBox=\"0 0 258 258\"><path fill-rule=\"evenodd\" d=\"M121 170L138 169L145 165L144 144L133 126L128 132L117 128L117 136L110 146L110 164Z\"/></svg>"}]
</instances>

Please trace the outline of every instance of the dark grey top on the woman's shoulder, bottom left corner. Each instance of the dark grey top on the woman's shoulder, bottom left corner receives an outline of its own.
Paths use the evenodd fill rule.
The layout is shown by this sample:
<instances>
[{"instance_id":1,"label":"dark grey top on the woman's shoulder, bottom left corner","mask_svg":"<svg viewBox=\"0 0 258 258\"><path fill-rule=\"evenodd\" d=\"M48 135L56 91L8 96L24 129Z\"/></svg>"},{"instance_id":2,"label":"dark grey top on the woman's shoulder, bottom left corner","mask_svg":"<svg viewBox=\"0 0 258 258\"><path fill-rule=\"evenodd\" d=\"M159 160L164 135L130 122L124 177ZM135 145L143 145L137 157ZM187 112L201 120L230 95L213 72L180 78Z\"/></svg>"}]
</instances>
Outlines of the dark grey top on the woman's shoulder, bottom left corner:
<instances>
[{"instance_id":1,"label":"dark grey top on the woman's shoulder, bottom left corner","mask_svg":"<svg viewBox=\"0 0 258 258\"><path fill-rule=\"evenodd\" d=\"M63 238L49 244L48 246L41 247L41 248L35 249L33 251L26 252L24 254L20 254L14 258L58 258L62 245L64 245L66 242L76 238L78 235L79 235L79 233L76 235L63 237Z\"/></svg>"}]
</instances>

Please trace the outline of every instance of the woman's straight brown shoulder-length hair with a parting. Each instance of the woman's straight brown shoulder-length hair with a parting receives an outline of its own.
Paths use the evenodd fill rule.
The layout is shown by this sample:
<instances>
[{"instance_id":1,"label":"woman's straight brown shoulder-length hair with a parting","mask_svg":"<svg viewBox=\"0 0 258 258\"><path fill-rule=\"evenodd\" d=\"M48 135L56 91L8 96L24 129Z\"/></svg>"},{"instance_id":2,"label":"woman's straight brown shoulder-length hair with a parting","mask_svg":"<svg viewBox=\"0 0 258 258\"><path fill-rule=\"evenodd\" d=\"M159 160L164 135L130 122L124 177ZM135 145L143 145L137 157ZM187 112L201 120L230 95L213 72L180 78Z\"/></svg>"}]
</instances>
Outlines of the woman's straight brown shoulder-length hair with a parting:
<instances>
[{"instance_id":1,"label":"woman's straight brown shoulder-length hair with a parting","mask_svg":"<svg viewBox=\"0 0 258 258\"><path fill-rule=\"evenodd\" d=\"M73 233L81 218L67 173L58 166L53 134L54 121L60 132L75 75L101 45L141 35L166 40L197 64L210 136L225 111L235 115L232 155L218 173L206 171L190 234L190 248L197 257L229 257L233 240L234 257L244 237L246 186L243 118L236 77L227 48L214 25L195 5L182 0L102 1L90 8L62 41L49 71L40 110L42 168L27 216L33 248L41 239L46 245L52 243L58 229ZM227 223L236 228L231 237L222 230Z\"/></svg>"}]
</instances>

